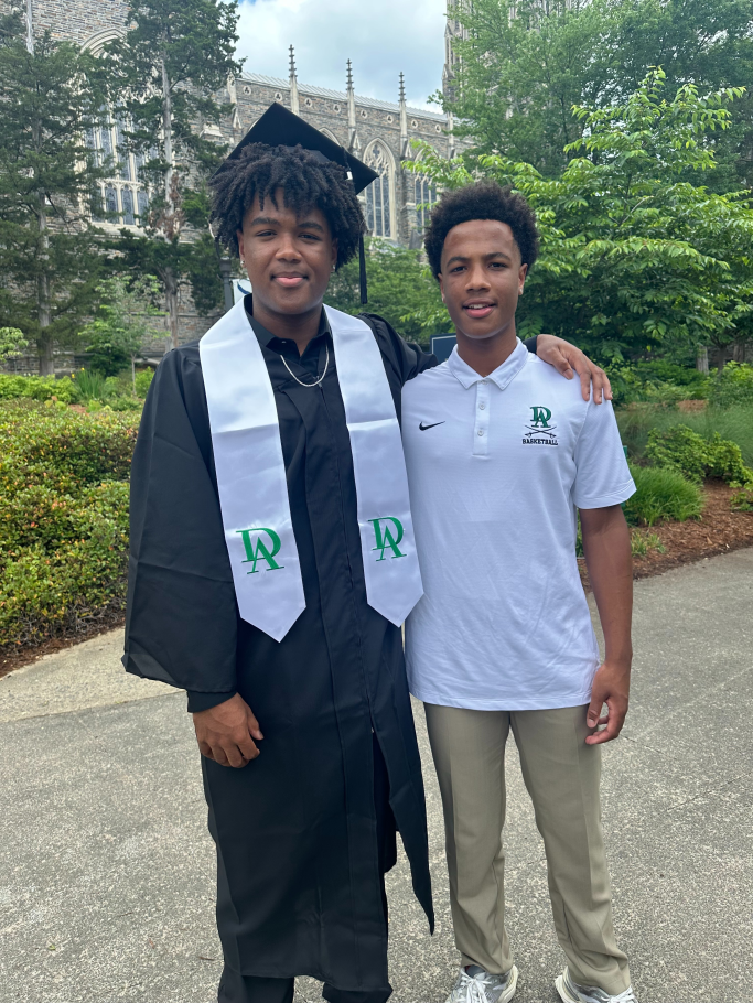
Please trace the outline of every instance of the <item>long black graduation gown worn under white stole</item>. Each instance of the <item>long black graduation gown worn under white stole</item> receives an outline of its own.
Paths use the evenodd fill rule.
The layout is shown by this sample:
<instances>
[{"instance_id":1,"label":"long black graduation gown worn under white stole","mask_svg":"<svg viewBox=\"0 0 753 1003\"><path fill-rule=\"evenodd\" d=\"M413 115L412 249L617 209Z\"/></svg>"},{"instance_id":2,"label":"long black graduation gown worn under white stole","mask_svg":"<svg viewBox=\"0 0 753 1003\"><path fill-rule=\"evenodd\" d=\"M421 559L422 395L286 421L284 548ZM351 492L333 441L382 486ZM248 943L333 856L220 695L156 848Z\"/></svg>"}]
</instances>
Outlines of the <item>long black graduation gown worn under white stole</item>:
<instances>
[{"instance_id":1,"label":"long black graduation gown worn under white stole","mask_svg":"<svg viewBox=\"0 0 753 1003\"><path fill-rule=\"evenodd\" d=\"M384 320L364 320L399 417L404 382L435 359ZM226 963L245 975L308 974L342 990L377 990L388 984L381 872L391 861L379 859L377 844L375 738L413 889L433 927L401 634L366 602L334 353L322 385L308 388L260 343L306 608L280 643L238 616L198 346L187 345L157 370L133 456L123 664L194 699L238 691L265 734L261 755L243 769L202 759Z\"/></svg>"}]
</instances>

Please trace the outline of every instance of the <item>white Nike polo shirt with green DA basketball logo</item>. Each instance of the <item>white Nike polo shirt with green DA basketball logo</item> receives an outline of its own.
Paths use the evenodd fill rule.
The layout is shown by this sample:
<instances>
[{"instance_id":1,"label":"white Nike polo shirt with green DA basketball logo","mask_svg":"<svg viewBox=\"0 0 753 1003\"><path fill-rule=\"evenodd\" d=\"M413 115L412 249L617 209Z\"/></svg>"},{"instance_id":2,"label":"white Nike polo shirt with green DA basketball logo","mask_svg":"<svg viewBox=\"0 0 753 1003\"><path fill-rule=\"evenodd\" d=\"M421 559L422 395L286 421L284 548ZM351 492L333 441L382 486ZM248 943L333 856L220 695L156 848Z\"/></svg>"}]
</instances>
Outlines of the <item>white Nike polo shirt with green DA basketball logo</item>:
<instances>
[{"instance_id":1,"label":"white Nike polo shirt with green DA basketball logo","mask_svg":"<svg viewBox=\"0 0 753 1003\"><path fill-rule=\"evenodd\" d=\"M611 403L529 354L481 377L458 355L402 390L423 598L406 624L410 691L475 710L591 700L599 648L577 508L635 492Z\"/></svg>"}]
</instances>

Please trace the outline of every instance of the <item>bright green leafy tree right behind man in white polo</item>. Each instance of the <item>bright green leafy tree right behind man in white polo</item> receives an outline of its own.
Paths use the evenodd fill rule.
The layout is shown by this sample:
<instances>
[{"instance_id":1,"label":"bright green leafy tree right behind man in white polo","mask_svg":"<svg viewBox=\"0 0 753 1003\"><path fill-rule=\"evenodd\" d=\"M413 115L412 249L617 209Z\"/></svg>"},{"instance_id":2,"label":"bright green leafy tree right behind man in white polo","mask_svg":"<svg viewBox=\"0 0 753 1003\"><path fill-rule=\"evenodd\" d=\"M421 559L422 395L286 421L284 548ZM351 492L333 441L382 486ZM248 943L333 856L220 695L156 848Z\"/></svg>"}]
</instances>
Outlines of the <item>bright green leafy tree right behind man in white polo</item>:
<instances>
[{"instance_id":1,"label":"bright green leafy tree right behind man in white polo","mask_svg":"<svg viewBox=\"0 0 753 1003\"><path fill-rule=\"evenodd\" d=\"M709 133L729 128L741 89L673 100L653 71L625 101L577 108L583 138L556 179L531 164L484 155L475 170L510 184L534 207L539 260L518 308L521 334L552 332L603 362L657 348L721 344L750 323L750 192L714 194L684 181L714 164ZM424 147L420 166L455 187L475 175Z\"/></svg>"}]
</instances>

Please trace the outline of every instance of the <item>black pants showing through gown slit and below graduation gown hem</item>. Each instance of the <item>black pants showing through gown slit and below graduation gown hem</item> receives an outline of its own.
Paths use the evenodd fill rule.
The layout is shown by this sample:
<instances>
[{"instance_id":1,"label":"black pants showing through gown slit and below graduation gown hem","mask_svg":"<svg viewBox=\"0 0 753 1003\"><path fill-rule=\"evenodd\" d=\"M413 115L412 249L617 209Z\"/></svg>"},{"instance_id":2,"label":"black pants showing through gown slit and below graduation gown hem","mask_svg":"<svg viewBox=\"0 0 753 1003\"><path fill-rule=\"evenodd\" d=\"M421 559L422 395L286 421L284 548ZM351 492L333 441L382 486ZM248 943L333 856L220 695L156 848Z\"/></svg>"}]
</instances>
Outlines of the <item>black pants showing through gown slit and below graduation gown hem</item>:
<instances>
[{"instance_id":1,"label":"black pants showing through gown slit and below graduation gown hem","mask_svg":"<svg viewBox=\"0 0 753 1003\"><path fill-rule=\"evenodd\" d=\"M377 821L377 845L383 875L395 865L395 818L389 807L389 778L387 764L379 743L374 738L374 802ZM381 878L381 903L387 927L387 894ZM227 966L219 981L217 1003L292 1003L294 979L263 979L241 975ZM324 983L322 995L329 1003L386 1003L392 994L391 985L370 992L348 992Z\"/></svg>"}]
</instances>

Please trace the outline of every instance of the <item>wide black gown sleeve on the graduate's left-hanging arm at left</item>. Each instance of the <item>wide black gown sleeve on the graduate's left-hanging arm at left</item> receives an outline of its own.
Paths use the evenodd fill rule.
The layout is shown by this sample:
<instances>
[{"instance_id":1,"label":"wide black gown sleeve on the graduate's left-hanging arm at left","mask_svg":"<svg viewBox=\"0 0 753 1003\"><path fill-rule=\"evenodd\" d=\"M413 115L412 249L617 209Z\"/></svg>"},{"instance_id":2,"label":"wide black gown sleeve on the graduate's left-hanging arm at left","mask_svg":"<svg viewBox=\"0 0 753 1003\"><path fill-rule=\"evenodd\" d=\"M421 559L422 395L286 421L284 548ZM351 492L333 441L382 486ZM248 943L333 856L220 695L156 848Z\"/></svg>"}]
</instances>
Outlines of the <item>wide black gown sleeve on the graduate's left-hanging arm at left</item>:
<instances>
[{"instance_id":1,"label":"wide black gown sleeve on the graduate's left-hanging arm at left","mask_svg":"<svg viewBox=\"0 0 753 1003\"><path fill-rule=\"evenodd\" d=\"M126 670L206 700L232 697L237 606L195 347L170 352L152 380L130 518Z\"/></svg>"}]
</instances>

